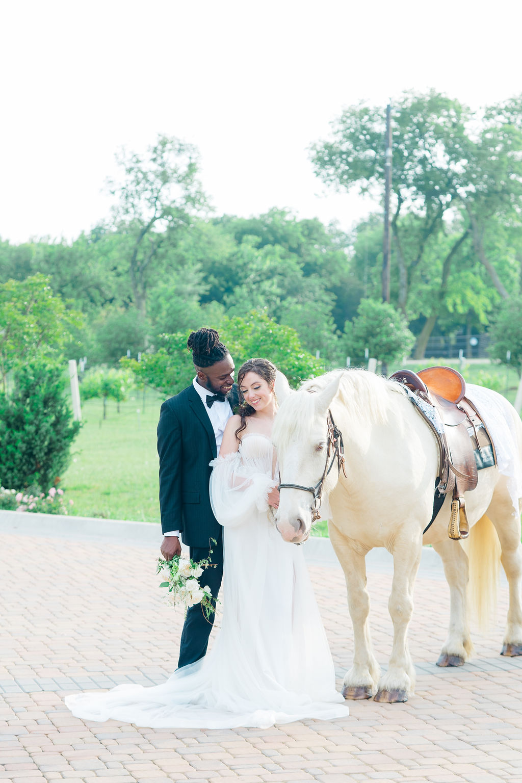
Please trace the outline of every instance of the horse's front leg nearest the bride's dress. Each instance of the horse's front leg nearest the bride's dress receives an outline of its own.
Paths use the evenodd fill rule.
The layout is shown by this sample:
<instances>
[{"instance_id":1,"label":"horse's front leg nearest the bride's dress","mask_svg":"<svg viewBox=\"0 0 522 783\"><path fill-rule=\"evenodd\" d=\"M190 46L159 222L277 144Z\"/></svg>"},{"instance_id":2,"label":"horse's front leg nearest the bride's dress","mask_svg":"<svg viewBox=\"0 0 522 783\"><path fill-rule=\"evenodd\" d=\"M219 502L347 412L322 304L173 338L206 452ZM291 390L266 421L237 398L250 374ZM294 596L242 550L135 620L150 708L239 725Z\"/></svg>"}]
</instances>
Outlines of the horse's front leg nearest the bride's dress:
<instances>
[{"instance_id":1,"label":"horse's front leg nearest the bride's dress","mask_svg":"<svg viewBox=\"0 0 522 783\"><path fill-rule=\"evenodd\" d=\"M343 567L348 608L354 629L354 662L343 682L344 698L371 698L379 680L380 668L372 651L369 633L369 594L366 589L366 550L329 525L333 549Z\"/></svg>"}]
</instances>

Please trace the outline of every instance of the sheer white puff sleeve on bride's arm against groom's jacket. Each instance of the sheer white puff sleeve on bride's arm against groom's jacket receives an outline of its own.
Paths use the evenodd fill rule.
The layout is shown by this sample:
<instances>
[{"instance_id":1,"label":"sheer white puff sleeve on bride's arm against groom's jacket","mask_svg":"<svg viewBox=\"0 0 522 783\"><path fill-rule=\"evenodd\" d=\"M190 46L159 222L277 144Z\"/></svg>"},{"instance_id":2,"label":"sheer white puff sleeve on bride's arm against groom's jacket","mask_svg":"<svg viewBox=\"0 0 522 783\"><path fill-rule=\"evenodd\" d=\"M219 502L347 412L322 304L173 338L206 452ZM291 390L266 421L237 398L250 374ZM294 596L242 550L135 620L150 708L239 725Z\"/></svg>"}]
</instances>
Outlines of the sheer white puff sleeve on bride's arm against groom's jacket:
<instances>
[{"instance_id":1,"label":"sheer white puff sleeve on bride's arm against groom's jacket","mask_svg":"<svg viewBox=\"0 0 522 783\"><path fill-rule=\"evenodd\" d=\"M266 461L259 464L239 452L212 460L211 504L220 525L236 527L254 514L268 511L268 493L278 482L272 478L272 464Z\"/></svg>"}]
</instances>

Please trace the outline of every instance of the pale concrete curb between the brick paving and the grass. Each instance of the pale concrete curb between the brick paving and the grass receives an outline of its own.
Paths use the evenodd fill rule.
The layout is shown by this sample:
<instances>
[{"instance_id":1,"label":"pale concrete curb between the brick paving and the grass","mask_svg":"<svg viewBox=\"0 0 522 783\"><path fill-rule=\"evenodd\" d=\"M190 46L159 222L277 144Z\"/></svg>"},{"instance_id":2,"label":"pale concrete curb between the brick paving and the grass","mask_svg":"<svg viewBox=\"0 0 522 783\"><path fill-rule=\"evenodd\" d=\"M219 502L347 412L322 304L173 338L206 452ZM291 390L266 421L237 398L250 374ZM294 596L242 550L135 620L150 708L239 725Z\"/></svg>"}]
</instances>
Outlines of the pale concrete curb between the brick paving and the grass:
<instances>
[{"instance_id":1,"label":"pale concrete curb between the brick paving and the grass","mask_svg":"<svg viewBox=\"0 0 522 783\"><path fill-rule=\"evenodd\" d=\"M95 517L65 517L59 514L0 511L0 533L18 536L73 539L96 543L119 543L129 547L160 548L160 525L153 522L131 522ZM311 536L304 544L304 555L310 565L340 568L329 538ZM393 572L393 558L384 549L373 549L366 555L371 572ZM420 576L443 578L441 559L431 547L423 547Z\"/></svg>"}]
</instances>

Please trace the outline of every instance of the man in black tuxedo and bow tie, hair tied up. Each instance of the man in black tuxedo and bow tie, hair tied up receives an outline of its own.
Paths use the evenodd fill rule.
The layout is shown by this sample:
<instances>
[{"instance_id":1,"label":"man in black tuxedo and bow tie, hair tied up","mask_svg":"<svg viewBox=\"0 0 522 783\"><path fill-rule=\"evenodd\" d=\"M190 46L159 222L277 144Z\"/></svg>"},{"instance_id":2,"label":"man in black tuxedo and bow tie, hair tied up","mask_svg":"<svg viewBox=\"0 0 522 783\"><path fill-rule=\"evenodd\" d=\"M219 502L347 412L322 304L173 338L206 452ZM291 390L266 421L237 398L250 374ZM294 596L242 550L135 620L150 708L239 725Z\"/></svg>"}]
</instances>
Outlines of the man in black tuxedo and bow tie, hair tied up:
<instances>
[{"instance_id":1,"label":"man in black tuxedo and bow tie, hair tied up","mask_svg":"<svg viewBox=\"0 0 522 783\"><path fill-rule=\"evenodd\" d=\"M189 336L196 377L188 388L161 406L157 426L160 456L160 513L164 533L161 554L169 561L181 554L183 543L193 561L209 557L204 581L218 597L223 576L222 528L214 517L209 495L211 467L218 456L225 425L238 402L234 363L228 348L214 329L200 329ZM216 543L211 544L211 539ZM200 604L189 607L182 630L178 666L203 658L214 613L207 620Z\"/></svg>"}]
</instances>

